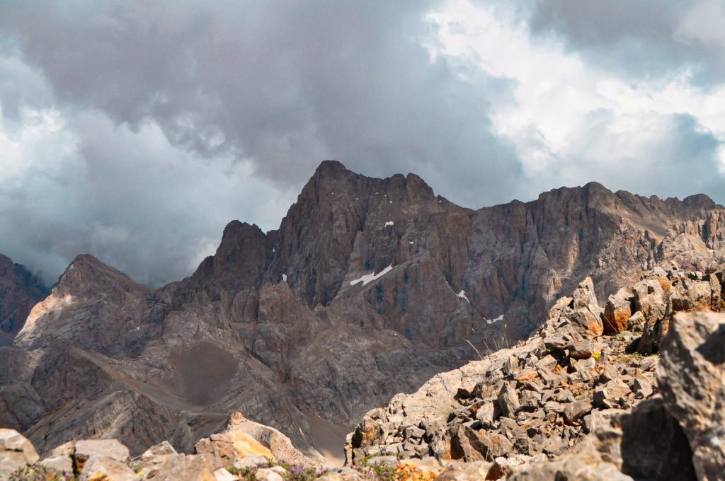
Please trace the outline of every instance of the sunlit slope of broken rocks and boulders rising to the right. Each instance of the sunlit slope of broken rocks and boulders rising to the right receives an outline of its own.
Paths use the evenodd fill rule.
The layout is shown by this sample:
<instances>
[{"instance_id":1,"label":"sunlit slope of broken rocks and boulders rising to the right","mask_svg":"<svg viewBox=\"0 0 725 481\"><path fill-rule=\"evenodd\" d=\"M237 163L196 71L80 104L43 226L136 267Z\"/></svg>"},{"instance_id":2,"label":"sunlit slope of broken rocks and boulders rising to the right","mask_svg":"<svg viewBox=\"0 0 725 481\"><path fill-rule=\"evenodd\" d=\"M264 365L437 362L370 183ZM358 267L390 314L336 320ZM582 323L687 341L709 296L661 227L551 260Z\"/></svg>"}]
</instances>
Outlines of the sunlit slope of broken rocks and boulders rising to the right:
<instances>
[{"instance_id":1,"label":"sunlit slope of broken rocks and boulders rising to the right","mask_svg":"<svg viewBox=\"0 0 725 481\"><path fill-rule=\"evenodd\" d=\"M631 293L626 322L605 334L615 296L605 316L587 279L526 342L369 411L347 459L432 456L482 474L460 480L724 479L725 315L710 313L725 310L724 290L725 265L645 272L619 294Z\"/></svg>"}]
</instances>

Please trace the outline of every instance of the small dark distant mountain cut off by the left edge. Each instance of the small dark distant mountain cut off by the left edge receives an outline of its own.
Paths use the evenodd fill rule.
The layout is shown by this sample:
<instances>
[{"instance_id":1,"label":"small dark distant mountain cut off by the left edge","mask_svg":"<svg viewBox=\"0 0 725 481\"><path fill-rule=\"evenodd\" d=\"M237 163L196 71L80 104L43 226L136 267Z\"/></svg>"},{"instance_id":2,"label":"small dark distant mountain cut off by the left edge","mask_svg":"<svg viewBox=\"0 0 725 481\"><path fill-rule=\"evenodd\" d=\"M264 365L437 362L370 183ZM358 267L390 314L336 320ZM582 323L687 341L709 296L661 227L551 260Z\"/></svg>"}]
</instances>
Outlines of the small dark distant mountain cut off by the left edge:
<instances>
[{"instance_id":1,"label":"small dark distant mountain cut off by the left edge","mask_svg":"<svg viewBox=\"0 0 725 481\"><path fill-rule=\"evenodd\" d=\"M30 309L47 293L25 267L0 254L0 346L12 344Z\"/></svg>"}]
</instances>

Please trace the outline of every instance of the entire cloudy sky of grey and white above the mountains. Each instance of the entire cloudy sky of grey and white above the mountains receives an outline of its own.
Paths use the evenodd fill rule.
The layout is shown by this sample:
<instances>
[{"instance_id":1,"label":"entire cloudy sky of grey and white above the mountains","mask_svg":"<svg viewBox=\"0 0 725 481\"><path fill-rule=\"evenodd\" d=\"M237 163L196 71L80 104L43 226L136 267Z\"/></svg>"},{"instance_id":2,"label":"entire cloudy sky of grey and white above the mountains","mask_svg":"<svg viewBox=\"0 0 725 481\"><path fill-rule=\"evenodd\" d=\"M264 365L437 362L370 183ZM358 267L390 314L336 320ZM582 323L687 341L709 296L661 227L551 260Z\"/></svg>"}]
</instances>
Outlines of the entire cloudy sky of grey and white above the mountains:
<instances>
[{"instance_id":1,"label":"entire cloudy sky of grey and white above the mountains","mask_svg":"<svg viewBox=\"0 0 725 481\"><path fill-rule=\"evenodd\" d=\"M0 1L0 252L160 285L320 159L725 204L725 1Z\"/></svg>"}]
</instances>

